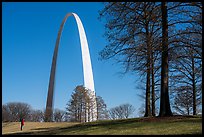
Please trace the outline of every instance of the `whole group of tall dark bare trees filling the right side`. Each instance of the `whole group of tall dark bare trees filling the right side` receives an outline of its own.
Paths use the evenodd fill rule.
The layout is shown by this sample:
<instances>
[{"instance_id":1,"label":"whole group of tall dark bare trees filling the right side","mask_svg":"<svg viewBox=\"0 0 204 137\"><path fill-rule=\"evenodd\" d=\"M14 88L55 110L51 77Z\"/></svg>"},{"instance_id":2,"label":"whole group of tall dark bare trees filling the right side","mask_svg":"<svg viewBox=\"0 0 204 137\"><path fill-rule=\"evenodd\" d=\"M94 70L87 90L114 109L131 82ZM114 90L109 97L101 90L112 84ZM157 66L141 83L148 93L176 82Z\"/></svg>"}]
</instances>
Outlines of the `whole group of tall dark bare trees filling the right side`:
<instances>
[{"instance_id":1,"label":"whole group of tall dark bare trees filling the right side","mask_svg":"<svg viewBox=\"0 0 204 137\"><path fill-rule=\"evenodd\" d=\"M100 19L106 18L105 37L109 44L100 57L114 58L124 67L124 73L133 72L145 79L144 116L155 116L158 99L159 116L171 116L171 105L178 112L182 106L177 102L183 92L192 98L193 115L196 115L202 95L202 3L107 2L104 5Z\"/></svg>"}]
</instances>

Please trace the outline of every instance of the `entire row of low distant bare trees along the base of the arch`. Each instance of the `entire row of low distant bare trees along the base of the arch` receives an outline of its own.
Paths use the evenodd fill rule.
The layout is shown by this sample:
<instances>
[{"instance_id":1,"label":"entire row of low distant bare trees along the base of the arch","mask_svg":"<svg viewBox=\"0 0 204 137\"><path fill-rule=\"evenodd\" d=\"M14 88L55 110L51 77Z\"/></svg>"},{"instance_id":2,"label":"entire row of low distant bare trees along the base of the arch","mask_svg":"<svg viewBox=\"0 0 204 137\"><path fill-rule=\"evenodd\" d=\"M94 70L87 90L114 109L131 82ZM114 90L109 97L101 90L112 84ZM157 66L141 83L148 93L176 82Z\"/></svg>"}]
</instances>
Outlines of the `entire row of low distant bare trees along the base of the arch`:
<instances>
[{"instance_id":1,"label":"entire row of low distant bare trees along the base of the arch","mask_svg":"<svg viewBox=\"0 0 204 137\"><path fill-rule=\"evenodd\" d=\"M77 86L68 101L66 110L54 109L52 122L88 122L92 103L88 90L82 85ZM107 110L101 96L96 97L97 120L129 118L135 111L130 104L122 104ZM19 122L20 119L30 122L45 122L45 110L34 110L27 103L10 102L2 105L2 122Z\"/></svg>"}]
</instances>

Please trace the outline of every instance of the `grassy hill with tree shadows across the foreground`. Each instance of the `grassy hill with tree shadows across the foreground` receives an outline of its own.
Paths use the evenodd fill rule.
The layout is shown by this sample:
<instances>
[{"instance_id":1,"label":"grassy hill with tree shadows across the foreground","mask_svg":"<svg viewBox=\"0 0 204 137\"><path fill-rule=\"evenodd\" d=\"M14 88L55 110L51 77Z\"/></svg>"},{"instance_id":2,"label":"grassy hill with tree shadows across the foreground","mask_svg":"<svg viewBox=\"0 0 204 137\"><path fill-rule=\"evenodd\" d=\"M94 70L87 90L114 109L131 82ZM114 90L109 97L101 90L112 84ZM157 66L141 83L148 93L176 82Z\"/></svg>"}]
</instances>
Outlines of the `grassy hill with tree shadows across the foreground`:
<instances>
[{"instance_id":1,"label":"grassy hill with tree shadows across the foreground","mask_svg":"<svg viewBox=\"0 0 204 137\"><path fill-rule=\"evenodd\" d=\"M202 134L202 117L173 116L131 118L89 123L19 122L2 123L2 134L31 135L197 135Z\"/></svg>"}]
</instances>

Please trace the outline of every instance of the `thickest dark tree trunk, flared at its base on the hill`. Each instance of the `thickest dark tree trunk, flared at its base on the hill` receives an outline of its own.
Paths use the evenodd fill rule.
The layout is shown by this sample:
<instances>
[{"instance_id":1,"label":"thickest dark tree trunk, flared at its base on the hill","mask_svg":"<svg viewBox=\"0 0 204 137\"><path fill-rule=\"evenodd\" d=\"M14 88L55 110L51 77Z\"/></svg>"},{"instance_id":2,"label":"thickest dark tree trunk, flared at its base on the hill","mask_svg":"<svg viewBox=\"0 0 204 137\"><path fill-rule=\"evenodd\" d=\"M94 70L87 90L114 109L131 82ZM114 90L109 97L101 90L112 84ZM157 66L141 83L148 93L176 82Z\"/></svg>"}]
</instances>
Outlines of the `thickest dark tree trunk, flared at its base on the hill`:
<instances>
[{"instance_id":1,"label":"thickest dark tree trunk, flared at its base on the hill","mask_svg":"<svg viewBox=\"0 0 204 137\"><path fill-rule=\"evenodd\" d=\"M161 2L162 10L162 66L159 116L172 116L168 93L168 23L166 2Z\"/></svg>"}]
</instances>

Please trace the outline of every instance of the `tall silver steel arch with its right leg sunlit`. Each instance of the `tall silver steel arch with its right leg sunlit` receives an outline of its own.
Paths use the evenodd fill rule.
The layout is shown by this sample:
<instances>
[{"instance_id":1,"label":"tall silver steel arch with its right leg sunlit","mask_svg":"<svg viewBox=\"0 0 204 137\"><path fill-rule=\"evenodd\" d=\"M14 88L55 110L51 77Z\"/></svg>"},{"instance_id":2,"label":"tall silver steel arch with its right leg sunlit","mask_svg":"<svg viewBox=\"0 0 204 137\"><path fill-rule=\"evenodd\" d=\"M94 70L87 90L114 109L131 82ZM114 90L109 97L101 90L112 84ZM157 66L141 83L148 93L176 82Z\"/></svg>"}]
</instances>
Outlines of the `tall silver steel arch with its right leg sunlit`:
<instances>
[{"instance_id":1,"label":"tall silver steel arch with its right leg sunlit","mask_svg":"<svg viewBox=\"0 0 204 137\"><path fill-rule=\"evenodd\" d=\"M93 72L92 72L88 42L86 39L86 34L84 31L83 24L80 18L78 17L78 15L75 13L66 14L66 16L64 17L60 25L60 29L58 31L57 40L56 40L55 49L54 49L54 55L52 59L52 67L51 67L51 72L50 72L50 81L49 81L47 104L46 104L46 111L45 111L45 121L52 121L51 117L52 117L53 104L54 104L53 95L54 95L55 71L56 71L58 48L59 48L60 38L61 38L64 24L67 18L70 16L74 16L77 26L78 26L80 43L81 43L82 62L83 62L84 87L87 89L88 95L90 96L91 101L93 103L91 110L89 110L89 114L88 113L86 114L86 116L89 116L89 118L86 118L86 122L96 121L97 120L97 104L96 104L96 95L95 95Z\"/></svg>"}]
</instances>

